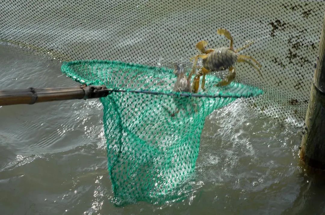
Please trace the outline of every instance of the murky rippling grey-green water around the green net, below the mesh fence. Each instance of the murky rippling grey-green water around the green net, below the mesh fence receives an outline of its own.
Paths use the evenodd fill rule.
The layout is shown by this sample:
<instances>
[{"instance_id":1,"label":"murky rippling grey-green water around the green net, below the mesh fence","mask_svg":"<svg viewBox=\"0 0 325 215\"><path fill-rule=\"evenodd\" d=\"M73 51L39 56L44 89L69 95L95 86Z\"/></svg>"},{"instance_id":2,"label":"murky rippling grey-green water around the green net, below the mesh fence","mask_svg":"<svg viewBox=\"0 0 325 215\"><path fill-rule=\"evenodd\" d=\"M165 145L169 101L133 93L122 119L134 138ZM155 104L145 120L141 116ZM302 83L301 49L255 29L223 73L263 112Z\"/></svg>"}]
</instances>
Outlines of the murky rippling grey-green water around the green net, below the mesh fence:
<instances>
[{"instance_id":1,"label":"murky rippling grey-green water around the green net, below the mesh fence","mask_svg":"<svg viewBox=\"0 0 325 215\"><path fill-rule=\"evenodd\" d=\"M1 89L68 87L61 64L0 45ZM2 214L313 214L325 211L322 180L298 167L299 130L240 101L205 122L192 195L124 207L107 172L102 105L95 100L0 107Z\"/></svg>"}]
</instances>

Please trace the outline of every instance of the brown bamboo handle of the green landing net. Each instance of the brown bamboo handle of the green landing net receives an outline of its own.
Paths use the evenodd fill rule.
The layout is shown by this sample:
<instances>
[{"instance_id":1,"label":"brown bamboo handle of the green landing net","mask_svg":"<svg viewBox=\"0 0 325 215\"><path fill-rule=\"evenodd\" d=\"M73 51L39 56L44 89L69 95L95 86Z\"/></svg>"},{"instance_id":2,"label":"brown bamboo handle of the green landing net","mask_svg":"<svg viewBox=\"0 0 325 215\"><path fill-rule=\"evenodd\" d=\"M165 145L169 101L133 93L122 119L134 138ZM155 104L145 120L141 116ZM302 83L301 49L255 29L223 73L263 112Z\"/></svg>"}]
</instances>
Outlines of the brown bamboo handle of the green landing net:
<instances>
[{"instance_id":1,"label":"brown bamboo handle of the green landing net","mask_svg":"<svg viewBox=\"0 0 325 215\"><path fill-rule=\"evenodd\" d=\"M105 97L112 91L105 86L82 85L72 88L29 88L24 90L0 90L0 106L13 104L34 104L71 99Z\"/></svg>"}]
</instances>

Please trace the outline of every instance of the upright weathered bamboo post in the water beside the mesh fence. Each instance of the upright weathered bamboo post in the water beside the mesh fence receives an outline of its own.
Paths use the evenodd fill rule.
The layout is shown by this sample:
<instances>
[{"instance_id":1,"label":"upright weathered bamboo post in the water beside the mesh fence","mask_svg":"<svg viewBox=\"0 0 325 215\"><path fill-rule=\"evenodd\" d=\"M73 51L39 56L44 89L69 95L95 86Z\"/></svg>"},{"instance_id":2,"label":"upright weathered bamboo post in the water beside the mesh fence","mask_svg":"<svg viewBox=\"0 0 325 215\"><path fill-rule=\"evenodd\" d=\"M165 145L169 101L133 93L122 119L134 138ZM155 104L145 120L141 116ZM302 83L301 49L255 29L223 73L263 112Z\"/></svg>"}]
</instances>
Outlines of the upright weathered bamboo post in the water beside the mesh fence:
<instances>
[{"instance_id":1,"label":"upright weathered bamboo post in the water beside the mesh fence","mask_svg":"<svg viewBox=\"0 0 325 215\"><path fill-rule=\"evenodd\" d=\"M325 14L303 133L299 152L301 161L325 170Z\"/></svg>"}]
</instances>

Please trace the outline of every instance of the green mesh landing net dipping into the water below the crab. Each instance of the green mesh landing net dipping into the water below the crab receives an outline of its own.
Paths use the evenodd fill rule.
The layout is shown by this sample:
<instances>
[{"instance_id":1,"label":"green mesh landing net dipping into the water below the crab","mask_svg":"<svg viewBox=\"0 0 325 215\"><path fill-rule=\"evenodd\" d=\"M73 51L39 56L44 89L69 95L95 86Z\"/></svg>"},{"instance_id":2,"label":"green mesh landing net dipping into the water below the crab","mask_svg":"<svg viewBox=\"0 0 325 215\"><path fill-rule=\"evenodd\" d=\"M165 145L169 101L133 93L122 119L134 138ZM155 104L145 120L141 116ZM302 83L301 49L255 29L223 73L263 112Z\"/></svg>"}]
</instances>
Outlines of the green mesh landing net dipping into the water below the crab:
<instances>
[{"instance_id":1,"label":"green mesh landing net dipping into the water below the crab","mask_svg":"<svg viewBox=\"0 0 325 215\"><path fill-rule=\"evenodd\" d=\"M237 98L263 93L234 82L211 87L220 79L208 75L204 92L183 96L173 91L174 69L116 61L65 62L61 70L80 83L112 89L100 101L116 205L185 197L205 117Z\"/></svg>"}]
</instances>

